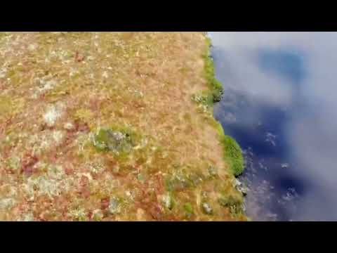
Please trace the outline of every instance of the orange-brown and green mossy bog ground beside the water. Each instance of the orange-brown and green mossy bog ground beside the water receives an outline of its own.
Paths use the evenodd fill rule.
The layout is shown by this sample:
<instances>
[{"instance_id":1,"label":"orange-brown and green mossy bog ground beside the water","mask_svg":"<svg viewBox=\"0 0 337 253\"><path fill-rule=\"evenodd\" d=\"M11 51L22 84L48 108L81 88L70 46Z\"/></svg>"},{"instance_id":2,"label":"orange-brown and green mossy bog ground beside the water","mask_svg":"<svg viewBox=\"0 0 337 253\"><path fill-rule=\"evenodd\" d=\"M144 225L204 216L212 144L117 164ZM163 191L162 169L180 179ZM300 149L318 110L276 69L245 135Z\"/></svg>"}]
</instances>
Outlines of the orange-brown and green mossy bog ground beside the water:
<instances>
[{"instance_id":1,"label":"orange-brown and green mossy bog ground beside the water","mask_svg":"<svg viewBox=\"0 0 337 253\"><path fill-rule=\"evenodd\" d=\"M0 220L246 221L209 43L1 33Z\"/></svg>"}]
</instances>

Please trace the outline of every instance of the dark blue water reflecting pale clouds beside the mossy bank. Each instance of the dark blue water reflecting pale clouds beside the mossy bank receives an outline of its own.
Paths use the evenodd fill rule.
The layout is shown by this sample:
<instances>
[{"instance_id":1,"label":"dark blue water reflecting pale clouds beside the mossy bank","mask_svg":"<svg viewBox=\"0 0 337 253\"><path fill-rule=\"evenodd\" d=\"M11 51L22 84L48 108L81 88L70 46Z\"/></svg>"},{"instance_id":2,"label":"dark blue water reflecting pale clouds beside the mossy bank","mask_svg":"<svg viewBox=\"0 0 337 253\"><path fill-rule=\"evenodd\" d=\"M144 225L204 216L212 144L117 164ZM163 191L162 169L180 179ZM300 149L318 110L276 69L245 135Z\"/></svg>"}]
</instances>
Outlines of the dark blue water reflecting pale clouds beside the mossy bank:
<instances>
[{"instance_id":1,"label":"dark blue water reflecting pale clouds beside the mossy bank","mask_svg":"<svg viewBox=\"0 0 337 253\"><path fill-rule=\"evenodd\" d=\"M244 150L247 214L337 220L337 33L210 32L216 118Z\"/></svg>"}]
</instances>

